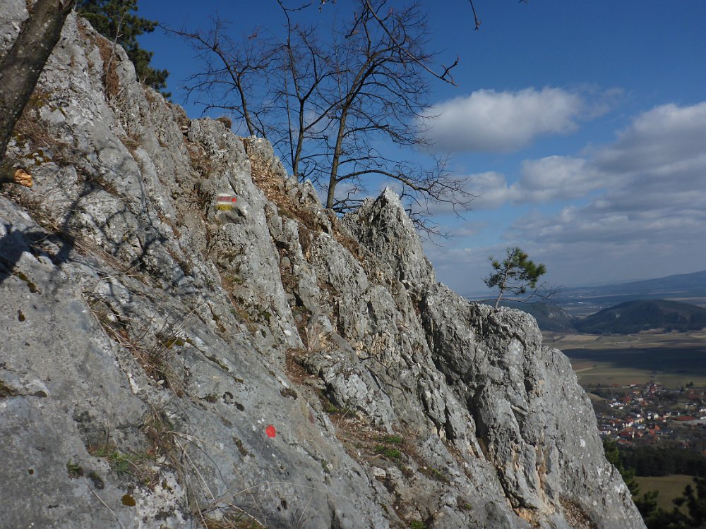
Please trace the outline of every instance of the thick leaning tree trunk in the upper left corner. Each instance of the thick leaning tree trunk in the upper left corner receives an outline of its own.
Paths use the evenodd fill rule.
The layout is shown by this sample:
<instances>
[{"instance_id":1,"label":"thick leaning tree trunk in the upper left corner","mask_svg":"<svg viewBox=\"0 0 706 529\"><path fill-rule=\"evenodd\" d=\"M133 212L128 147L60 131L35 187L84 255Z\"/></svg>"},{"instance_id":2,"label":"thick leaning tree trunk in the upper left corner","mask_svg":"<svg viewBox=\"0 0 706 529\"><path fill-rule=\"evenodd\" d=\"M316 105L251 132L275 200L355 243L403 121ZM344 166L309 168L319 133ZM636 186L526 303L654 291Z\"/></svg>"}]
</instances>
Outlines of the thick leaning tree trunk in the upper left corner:
<instances>
[{"instance_id":1,"label":"thick leaning tree trunk in the upper left corner","mask_svg":"<svg viewBox=\"0 0 706 529\"><path fill-rule=\"evenodd\" d=\"M10 51L0 61L0 160L37 80L59 42L61 28L75 0L28 2L30 16Z\"/></svg>"}]
</instances>

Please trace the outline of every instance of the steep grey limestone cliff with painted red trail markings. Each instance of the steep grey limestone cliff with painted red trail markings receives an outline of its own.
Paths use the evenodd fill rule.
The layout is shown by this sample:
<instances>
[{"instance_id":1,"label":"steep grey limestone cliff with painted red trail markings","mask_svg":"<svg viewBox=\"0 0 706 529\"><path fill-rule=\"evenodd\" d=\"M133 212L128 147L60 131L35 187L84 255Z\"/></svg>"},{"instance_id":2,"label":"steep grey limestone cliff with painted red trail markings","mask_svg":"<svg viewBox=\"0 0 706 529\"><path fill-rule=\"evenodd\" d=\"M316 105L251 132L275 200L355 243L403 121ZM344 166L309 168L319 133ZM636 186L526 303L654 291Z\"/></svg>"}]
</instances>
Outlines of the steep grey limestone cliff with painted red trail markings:
<instances>
[{"instance_id":1,"label":"steep grey limestone cliff with painted red trail markings","mask_svg":"<svg viewBox=\"0 0 706 529\"><path fill-rule=\"evenodd\" d=\"M0 527L643 527L566 357L389 190L338 219L75 17L8 154Z\"/></svg>"}]
</instances>

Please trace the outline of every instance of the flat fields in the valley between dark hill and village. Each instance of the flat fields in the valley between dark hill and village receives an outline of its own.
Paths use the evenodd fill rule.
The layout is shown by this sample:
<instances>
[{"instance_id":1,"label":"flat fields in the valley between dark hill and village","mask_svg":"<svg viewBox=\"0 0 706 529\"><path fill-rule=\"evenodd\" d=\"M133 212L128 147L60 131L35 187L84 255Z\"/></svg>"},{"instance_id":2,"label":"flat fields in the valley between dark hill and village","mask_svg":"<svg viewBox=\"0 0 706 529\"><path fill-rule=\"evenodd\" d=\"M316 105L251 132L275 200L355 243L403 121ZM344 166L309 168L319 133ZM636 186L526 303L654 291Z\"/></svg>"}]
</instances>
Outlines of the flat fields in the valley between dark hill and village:
<instances>
[{"instance_id":1,"label":"flat fields in the valley between dark hill and village","mask_svg":"<svg viewBox=\"0 0 706 529\"><path fill-rule=\"evenodd\" d=\"M544 333L561 349L582 386L645 384L706 387L706 332L640 333L625 336Z\"/></svg>"}]
</instances>

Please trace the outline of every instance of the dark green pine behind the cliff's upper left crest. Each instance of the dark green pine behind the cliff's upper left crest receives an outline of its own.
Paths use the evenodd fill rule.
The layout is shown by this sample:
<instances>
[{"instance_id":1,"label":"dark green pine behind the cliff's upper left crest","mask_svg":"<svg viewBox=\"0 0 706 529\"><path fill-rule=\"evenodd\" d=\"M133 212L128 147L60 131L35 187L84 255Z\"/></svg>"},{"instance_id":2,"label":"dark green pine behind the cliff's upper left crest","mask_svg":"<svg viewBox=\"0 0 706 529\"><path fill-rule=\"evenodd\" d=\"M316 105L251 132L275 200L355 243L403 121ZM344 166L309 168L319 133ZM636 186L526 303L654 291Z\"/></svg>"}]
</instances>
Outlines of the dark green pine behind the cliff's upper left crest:
<instances>
[{"instance_id":1,"label":"dark green pine behind the cliff's upper left crest","mask_svg":"<svg viewBox=\"0 0 706 529\"><path fill-rule=\"evenodd\" d=\"M162 92L164 97L171 96L162 91L167 87L169 72L152 68L152 51L140 48L138 43L137 37L154 31L157 22L135 14L137 0L79 0L77 10L97 32L125 49L140 83Z\"/></svg>"}]
</instances>

